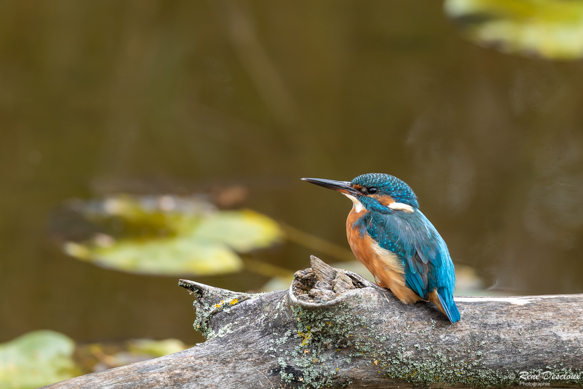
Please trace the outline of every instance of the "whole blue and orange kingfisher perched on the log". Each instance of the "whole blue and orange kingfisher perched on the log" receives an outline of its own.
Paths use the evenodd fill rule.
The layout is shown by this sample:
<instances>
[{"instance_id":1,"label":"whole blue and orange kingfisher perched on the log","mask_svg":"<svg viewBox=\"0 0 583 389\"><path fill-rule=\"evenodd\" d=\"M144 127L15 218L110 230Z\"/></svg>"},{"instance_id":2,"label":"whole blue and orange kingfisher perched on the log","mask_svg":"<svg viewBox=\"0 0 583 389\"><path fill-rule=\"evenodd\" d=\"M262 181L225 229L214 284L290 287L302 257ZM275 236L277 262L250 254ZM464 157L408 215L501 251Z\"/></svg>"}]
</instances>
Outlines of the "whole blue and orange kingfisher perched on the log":
<instances>
[{"instance_id":1,"label":"whole blue and orange kingfisher perched on the log","mask_svg":"<svg viewBox=\"0 0 583 389\"><path fill-rule=\"evenodd\" d=\"M459 321L451 255L436 227L419 210L409 185L383 173L362 174L352 181L302 180L352 201L346 219L348 243L379 286L405 304L430 301L451 323Z\"/></svg>"}]
</instances>

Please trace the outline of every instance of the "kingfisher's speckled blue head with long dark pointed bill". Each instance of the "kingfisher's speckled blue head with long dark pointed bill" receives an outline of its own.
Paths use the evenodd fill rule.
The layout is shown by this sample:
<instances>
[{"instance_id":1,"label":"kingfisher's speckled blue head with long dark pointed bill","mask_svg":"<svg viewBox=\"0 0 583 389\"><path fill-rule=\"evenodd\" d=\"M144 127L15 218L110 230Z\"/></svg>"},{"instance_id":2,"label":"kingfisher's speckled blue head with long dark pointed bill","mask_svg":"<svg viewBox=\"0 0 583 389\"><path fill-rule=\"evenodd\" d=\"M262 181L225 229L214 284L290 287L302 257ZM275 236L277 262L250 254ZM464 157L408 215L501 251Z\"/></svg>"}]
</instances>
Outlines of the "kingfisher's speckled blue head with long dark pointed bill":
<instances>
[{"instance_id":1,"label":"kingfisher's speckled blue head with long dark pointed bill","mask_svg":"<svg viewBox=\"0 0 583 389\"><path fill-rule=\"evenodd\" d=\"M417 196L405 182L382 173L368 173L352 181L323 180L322 178L302 178L308 183L338 191L354 203L356 212L366 209L377 212L413 212L419 208Z\"/></svg>"}]
</instances>

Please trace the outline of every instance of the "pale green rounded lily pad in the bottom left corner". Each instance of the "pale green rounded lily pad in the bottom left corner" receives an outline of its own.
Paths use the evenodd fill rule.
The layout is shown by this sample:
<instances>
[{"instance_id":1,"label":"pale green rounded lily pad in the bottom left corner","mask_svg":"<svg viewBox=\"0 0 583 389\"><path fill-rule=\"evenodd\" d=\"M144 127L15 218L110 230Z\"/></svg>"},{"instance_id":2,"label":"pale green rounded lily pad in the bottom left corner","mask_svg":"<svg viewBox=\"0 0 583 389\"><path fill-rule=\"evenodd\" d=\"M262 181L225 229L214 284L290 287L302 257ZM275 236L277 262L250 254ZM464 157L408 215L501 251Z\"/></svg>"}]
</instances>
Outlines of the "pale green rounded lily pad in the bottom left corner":
<instances>
[{"instance_id":1,"label":"pale green rounded lily pad in the bottom left corner","mask_svg":"<svg viewBox=\"0 0 583 389\"><path fill-rule=\"evenodd\" d=\"M75 342L55 331L29 332L0 344L0 389L27 389L79 375Z\"/></svg>"}]
</instances>

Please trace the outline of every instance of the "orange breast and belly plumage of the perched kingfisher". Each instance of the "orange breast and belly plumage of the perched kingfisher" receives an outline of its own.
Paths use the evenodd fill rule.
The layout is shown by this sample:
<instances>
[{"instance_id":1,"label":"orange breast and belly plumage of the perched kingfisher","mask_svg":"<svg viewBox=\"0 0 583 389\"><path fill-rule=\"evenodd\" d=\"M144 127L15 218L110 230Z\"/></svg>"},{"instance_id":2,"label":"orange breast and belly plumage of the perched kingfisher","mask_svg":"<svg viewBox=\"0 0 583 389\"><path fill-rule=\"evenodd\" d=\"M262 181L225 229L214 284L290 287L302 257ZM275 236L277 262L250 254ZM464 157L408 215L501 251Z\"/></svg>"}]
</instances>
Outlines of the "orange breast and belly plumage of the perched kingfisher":
<instances>
[{"instance_id":1,"label":"orange breast and belly plumage of the perched kingfisher","mask_svg":"<svg viewBox=\"0 0 583 389\"><path fill-rule=\"evenodd\" d=\"M380 247L368 234L366 228L360 229L356 226L366 212L365 209L356 212L352 208L346 219L346 236L354 256L366 266L378 283L391 289L403 303L412 304L421 300L421 297L405 285L405 269L397 255Z\"/></svg>"}]
</instances>

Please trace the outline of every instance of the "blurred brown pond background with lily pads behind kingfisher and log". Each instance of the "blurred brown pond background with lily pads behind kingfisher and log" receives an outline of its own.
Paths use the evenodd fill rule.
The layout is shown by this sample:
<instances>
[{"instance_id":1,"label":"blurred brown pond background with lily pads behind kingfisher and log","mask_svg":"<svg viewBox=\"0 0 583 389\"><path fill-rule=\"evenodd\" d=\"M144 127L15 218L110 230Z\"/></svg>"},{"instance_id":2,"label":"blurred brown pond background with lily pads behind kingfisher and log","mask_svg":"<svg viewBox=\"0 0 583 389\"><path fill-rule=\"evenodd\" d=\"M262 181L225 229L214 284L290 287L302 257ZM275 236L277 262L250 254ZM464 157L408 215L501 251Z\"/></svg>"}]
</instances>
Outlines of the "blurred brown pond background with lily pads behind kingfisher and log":
<instances>
[{"instance_id":1,"label":"blurred brown pond background with lily pads behind kingfisher and log","mask_svg":"<svg viewBox=\"0 0 583 389\"><path fill-rule=\"evenodd\" d=\"M583 292L582 15L581 0L1 1L0 380L30 339L67 374L141 358L145 338L203 341L180 276L260 291L310 254L351 260L350 202L300 177L402 178L463 290ZM156 267L178 240L198 268ZM35 330L58 333L18 338Z\"/></svg>"}]
</instances>

